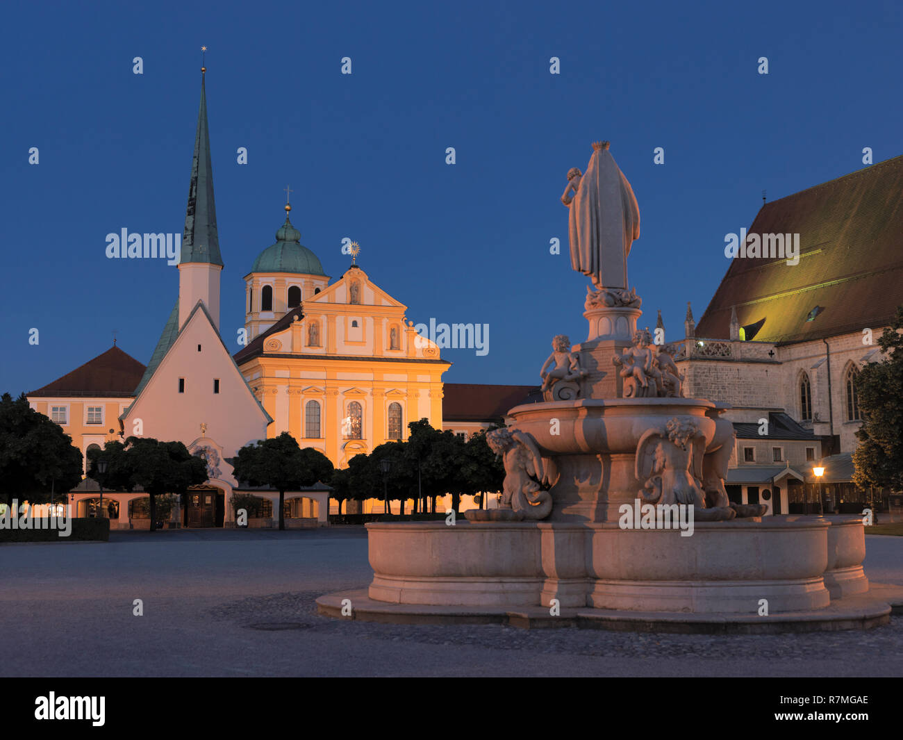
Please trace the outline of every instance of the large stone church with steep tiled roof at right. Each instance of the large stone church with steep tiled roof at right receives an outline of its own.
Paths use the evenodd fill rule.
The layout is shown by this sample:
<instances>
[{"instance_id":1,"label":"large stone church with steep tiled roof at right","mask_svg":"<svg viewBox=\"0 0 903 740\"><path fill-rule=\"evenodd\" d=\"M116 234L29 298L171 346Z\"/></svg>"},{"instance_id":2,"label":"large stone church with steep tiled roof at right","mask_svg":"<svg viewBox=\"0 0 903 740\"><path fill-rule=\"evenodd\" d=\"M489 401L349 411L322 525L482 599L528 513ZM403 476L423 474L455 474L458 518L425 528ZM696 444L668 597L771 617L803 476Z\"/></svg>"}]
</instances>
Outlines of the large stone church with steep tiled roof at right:
<instances>
[{"instance_id":1,"label":"large stone church with steep tiled roof at right","mask_svg":"<svg viewBox=\"0 0 903 740\"><path fill-rule=\"evenodd\" d=\"M765 203L752 235L798 235L798 264L732 259L676 358L688 397L732 406L728 492L771 513L884 509L889 492L851 482L853 379L903 304L903 156Z\"/></svg>"}]
</instances>

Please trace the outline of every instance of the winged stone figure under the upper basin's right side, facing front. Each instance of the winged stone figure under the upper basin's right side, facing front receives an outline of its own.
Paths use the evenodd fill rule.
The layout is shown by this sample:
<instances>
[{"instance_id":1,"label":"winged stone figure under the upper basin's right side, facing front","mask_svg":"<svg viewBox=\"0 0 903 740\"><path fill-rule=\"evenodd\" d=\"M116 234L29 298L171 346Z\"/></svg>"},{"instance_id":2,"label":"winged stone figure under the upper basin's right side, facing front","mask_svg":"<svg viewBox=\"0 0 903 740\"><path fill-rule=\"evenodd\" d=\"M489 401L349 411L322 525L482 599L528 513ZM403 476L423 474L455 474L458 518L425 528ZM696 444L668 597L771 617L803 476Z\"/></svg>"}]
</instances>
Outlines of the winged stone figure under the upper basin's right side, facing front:
<instances>
[{"instance_id":1,"label":"winged stone figure under the upper basin's right side, facing front","mask_svg":"<svg viewBox=\"0 0 903 740\"><path fill-rule=\"evenodd\" d=\"M647 429L639 438L635 474L644 481L639 498L647 503L686 504L694 507L694 519L733 519L730 506L706 506L703 492L705 437L691 420L668 419L665 427Z\"/></svg>"}]
</instances>

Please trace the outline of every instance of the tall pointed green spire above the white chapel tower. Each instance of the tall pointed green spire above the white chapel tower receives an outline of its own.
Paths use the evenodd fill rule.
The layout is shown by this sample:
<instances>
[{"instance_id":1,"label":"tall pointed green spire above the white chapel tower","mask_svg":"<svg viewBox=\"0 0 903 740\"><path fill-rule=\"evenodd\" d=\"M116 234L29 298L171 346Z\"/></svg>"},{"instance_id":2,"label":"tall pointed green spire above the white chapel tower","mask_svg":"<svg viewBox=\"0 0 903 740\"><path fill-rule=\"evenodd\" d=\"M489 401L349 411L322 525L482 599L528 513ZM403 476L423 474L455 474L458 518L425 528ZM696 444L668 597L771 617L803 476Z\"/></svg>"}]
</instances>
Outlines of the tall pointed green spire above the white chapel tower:
<instances>
[{"instance_id":1,"label":"tall pointed green spire above the white chapel tower","mask_svg":"<svg viewBox=\"0 0 903 740\"><path fill-rule=\"evenodd\" d=\"M198 132L194 137L194 159L191 161L191 183L188 186L188 208L185 210L180 264L203 262L222 267L217 209L213 202L213 167L210 164L210 136L207 130L207 96L204 93L205 71L201 70L200 73Z\"/></svg>"}]
</instances>

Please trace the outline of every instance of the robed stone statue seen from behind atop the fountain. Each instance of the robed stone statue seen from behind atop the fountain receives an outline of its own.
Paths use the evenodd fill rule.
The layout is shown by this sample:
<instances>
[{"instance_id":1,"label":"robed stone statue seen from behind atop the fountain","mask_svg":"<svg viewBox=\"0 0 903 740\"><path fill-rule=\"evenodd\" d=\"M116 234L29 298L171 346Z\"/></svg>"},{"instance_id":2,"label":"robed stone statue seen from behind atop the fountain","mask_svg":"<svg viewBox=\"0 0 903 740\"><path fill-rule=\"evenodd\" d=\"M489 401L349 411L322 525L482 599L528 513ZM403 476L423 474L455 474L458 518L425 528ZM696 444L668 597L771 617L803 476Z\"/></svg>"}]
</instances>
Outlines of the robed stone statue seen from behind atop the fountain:
<instances>
[{"instance_id":1,"label":"robed stone statue seen from behind atop the fountain","mask_svg":"<svg viewBox=\"0 0 903 740\"><path fill-rule=\"evenodd\" d=\"M570 211L571 267L591 277L597 290L627 289L630 245L639 239L639 207L607 141L592 145L583 174L574 167L562 202ZM573 192L573 195L572 195Z\"/></svg>"}]
</instances>

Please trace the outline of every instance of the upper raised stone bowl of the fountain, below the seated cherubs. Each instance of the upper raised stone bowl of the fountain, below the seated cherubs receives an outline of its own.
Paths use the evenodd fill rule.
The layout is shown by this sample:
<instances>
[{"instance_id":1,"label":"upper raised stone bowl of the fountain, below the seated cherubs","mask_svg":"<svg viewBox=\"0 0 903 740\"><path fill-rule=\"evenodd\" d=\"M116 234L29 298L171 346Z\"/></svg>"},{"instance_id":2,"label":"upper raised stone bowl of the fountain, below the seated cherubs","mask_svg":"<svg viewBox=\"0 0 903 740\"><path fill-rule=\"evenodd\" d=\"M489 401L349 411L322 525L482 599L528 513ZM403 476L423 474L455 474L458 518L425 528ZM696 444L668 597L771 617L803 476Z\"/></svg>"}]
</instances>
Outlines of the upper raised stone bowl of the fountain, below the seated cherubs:
<instances>
[{"instance_id":1,"label":"upper raised stone bowl of the fountain, below the seated cherubs","mask_svg":"<svg viewBox=\"0 0 903 740\"><path fill-rule=\"evenodd\" d=\"M715 407L703 398L582 399L523 404L508 416L544 454L634 454L647 429L674 417L694 421L709 445L715 422L706 412Z\"/></svg>"}]
</instances>

